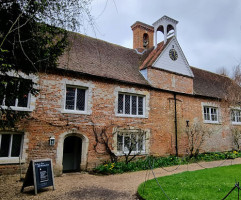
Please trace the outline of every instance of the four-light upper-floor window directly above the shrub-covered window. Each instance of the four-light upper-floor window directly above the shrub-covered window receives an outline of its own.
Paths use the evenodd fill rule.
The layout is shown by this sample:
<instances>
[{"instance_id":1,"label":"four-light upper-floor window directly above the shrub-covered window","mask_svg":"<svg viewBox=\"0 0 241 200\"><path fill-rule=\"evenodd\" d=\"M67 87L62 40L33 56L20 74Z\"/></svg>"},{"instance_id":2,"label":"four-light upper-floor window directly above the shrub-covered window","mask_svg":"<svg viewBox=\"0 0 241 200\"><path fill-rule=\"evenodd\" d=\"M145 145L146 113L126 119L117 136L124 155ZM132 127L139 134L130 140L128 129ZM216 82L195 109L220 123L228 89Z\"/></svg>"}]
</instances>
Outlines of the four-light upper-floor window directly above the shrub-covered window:
<instances>
[{"instance_id":1,"label":"four-light upper-floor window directly above the shrub-covered window","mask_svg":"<svg viewBox=\"0 0 241 200\"><path fill-rule=\"evenodd\" d=\"M144 97L130 94L118 94L118 114L143 116Z\"/></svg>"}]
</instances>

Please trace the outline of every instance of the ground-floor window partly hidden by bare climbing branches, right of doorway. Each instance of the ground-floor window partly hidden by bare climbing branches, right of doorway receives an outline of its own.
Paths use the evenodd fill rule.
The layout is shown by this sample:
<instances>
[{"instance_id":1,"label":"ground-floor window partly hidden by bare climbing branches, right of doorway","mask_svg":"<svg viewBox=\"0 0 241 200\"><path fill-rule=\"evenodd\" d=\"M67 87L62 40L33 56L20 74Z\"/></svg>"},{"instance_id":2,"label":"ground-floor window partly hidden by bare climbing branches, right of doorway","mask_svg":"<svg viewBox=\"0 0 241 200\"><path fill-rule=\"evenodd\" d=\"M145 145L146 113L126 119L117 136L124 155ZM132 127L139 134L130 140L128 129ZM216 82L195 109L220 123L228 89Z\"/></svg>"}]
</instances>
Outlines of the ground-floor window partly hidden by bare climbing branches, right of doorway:
<instances>
[{"instance_id":1,"label":"ground-floor window partly hidden by bare climbing branches, right of doorway","mask_svg":"<svg viewBox=\"0 0 241 200\"><path fill-rule=\"evenodd\" d=\"M145 153L145 132L118 133L117 152L119 153Z\"/></svg>"}]
</instances>

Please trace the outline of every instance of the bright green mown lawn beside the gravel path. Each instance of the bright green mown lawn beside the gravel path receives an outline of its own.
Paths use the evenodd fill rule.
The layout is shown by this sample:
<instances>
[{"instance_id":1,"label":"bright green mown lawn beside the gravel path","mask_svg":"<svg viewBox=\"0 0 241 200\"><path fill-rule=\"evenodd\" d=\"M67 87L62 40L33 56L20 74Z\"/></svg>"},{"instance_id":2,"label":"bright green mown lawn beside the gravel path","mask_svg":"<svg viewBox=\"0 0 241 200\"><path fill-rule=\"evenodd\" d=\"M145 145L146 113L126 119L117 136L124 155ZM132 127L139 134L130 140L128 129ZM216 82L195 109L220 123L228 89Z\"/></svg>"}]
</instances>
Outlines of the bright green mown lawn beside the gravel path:
<instances>
[{"instance_id":1,"label":"bright green mown lawn beside the gravel path","mask_svg":"<svg viewBox=\"0 0 241 200\"><path fill-rule=\"evenodd\" d=\"M236 181L241 185L241 165L183 172L157 180L172 200L221 200L234 187ZM155 179L142 183L138 193L146 200L167 199ZM238 199L237 188L227 198L231 199Z\"/></svg>"}]
</instances>

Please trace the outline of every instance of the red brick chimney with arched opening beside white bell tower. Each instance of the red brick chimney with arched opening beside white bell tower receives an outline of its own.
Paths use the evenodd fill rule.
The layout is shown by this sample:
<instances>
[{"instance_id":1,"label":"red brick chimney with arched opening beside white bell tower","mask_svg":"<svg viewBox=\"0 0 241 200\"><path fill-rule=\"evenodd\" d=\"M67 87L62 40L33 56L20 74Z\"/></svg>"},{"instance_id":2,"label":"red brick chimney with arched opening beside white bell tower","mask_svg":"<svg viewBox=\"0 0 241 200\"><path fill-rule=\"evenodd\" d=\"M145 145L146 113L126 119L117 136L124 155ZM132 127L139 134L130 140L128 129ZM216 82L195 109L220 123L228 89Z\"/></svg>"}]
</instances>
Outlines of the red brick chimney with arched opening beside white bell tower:
<instances>
[{"instance_id":1,"label":"red brick chimney with arched opening beside white bell tower","mask_svg":"<svg viewBox=\"0 0 241 200\"><path fill-rule=\"evenodd\" d=\"M154 27L142 22L135 22L131 29L133 31L133 49L143 52L153 47Z\"/></svg>"}]
</instances>

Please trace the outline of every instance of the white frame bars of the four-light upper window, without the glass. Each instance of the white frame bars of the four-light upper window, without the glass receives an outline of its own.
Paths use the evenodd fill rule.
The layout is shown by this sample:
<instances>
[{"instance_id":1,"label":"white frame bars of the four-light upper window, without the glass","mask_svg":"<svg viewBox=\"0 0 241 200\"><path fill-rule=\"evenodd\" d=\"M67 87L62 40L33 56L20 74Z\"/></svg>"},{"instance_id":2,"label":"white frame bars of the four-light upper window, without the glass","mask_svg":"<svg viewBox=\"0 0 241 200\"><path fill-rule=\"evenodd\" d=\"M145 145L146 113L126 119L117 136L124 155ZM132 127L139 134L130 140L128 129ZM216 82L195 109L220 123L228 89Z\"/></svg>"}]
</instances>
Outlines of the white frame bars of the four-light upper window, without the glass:
<instances>
[{"instance_id":1,"label":"white frame bars of the four-light upper window, without the glass","mask_svg":"<svg viewBox=\"0 0 241 200\"><path fill-rule=\"evenodd\" d=\"M119 107L119 94L123 95L123 113L118 113L118 107ZM130 96L130 114L126 114L125 113L125 98L126 95ZM132 114L132 97L136 96L136 115ZM143 114L139 115L138 114L138 98L142 97L143 98L143 105L142 105L142 109L143 109ZM117 116L123 116L123 117L145 117L145 112L146 112L146 96L145 95L141 95L141 94L133 94L133 93L125 93L125 92L119 92L118 96L117 96L117 111L116 111L116 115Z\"/></svg>"}]
</instances>

